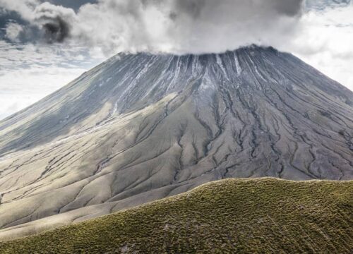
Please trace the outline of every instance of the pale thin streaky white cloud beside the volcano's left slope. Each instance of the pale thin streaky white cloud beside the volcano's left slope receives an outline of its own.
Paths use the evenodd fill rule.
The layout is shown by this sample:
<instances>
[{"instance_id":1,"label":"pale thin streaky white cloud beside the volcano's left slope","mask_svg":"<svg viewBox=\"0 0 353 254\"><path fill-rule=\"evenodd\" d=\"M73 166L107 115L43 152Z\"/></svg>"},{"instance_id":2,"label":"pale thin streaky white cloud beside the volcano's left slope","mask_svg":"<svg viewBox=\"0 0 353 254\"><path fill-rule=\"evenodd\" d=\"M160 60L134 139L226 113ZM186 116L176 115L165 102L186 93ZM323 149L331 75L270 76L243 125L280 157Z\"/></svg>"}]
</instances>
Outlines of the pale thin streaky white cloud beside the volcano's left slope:
<instances>
[{"instance_id":1,"label":"pale thin streaky white cloud beside the volcano's left slope","mask_svg":"<svg viewBox=\"0 0 353 254\"><path fill-rule=\"evenodd\" d=\"M80 47L0 41L0 119L37 102L100 61Z\"/></svg>"}]
</instances>

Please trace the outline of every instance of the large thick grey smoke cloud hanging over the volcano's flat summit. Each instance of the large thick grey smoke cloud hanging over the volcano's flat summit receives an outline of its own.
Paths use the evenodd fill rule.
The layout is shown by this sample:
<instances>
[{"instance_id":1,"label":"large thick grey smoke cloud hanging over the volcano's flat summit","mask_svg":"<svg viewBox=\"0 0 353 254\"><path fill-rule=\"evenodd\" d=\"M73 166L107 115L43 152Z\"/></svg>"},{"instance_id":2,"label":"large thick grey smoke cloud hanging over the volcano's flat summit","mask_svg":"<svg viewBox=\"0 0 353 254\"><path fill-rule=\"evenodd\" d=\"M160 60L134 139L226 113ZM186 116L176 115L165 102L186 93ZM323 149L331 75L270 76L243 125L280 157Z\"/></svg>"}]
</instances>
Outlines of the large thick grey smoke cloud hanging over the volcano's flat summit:
<instances>
[{"instance_id":1,"label":"large thick grey smoke cloud hanging over the volcano's flat summit","mask_svg":"<svg viewBox=\"0 0 353 254\"><path fill-rule=\"evenodd\" d=\"M0 0L45 42L105 52L223 52L290 40L304 0L100 0L78 11L40 0ZM32 33L35 34L35 33Z\"/></svg>"}]
</instances>

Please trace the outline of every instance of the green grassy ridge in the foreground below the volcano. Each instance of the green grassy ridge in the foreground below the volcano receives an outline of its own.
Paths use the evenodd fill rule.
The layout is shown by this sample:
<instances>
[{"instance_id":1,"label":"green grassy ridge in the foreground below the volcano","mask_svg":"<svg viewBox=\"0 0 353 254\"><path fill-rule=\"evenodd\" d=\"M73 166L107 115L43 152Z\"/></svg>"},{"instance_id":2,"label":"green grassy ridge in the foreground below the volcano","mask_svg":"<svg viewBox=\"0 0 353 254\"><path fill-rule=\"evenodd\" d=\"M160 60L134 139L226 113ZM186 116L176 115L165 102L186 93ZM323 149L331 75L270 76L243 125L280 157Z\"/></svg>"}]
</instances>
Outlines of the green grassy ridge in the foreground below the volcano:
<instances>
[{"instance_id":1,"label":"green grassy ridge in the foreground below the volcano","mask_svg":"<svg viewBox=\"0 0 353 254\"><path fill-rule=\"evenodd\" d=\"M227 179L0 253L351 253L353 181Z\"/></svg>"}]
</instances>

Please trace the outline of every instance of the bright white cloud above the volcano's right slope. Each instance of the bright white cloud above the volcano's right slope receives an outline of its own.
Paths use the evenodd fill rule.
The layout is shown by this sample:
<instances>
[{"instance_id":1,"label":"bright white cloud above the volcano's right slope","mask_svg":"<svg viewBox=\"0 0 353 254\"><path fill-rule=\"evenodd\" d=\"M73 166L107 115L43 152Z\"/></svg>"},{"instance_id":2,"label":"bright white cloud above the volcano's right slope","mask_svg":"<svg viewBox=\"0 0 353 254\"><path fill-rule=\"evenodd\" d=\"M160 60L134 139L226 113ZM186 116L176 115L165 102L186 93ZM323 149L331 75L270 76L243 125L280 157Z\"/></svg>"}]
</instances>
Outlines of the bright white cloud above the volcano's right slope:
<instances>
[{"instance_id":1,"label":"bright white cloud above the volcano's right slope","mask_svg":"<svg viewBox=\"0 0 353 254\"><path fill-rule=\"evenodd\" d=\"M353 90L353 4L301 17L293 40L280 49L292 52Z\"/></svg>"}]
</instances>

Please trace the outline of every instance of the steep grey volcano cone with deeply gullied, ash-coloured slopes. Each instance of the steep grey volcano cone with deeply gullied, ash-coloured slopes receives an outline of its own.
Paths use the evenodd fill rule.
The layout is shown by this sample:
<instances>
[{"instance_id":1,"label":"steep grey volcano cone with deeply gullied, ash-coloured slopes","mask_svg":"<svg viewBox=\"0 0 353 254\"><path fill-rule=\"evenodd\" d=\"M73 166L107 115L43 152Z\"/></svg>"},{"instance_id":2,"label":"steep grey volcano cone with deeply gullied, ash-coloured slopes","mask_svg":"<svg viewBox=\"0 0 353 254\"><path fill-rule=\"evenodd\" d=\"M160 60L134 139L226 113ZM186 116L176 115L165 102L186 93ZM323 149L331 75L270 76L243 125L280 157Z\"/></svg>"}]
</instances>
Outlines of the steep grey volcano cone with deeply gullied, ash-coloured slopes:
<instances>
[{"instance_id":1,"label":"steep grey volcano cone with deeply gullied, ash-coloured slopes","mask_svg":"<svg viewBox=\"0 0 353 254\"><path fill-rule=\"evenodd\" d=\"M121 54L1 121L0 237L216 179L353 179L352 138L353 92L291 54Z\"/></svg>"}]
</instances>

